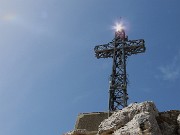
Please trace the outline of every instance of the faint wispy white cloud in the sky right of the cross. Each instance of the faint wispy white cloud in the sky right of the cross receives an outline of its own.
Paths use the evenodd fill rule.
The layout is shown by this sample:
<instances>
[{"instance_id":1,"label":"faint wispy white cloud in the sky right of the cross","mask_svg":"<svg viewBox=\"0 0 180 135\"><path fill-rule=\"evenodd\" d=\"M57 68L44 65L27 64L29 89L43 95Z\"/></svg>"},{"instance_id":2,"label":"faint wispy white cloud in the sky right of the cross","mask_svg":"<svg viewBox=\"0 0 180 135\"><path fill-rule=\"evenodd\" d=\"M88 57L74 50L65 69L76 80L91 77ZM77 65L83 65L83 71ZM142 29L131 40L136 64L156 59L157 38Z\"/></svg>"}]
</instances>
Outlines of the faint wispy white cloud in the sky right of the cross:
<instances>
[{"instance_id":1,"label":"faint wispy white cloud in the sky right of the cross","mask_svg":"<svg viewBox=\"0 0 180 135\"><path fill-rule=\"evenodd\" d=\"M180 77L180 51L167 65L158 68L163 80L175 80Z\"/></svg>"}]
</instances>

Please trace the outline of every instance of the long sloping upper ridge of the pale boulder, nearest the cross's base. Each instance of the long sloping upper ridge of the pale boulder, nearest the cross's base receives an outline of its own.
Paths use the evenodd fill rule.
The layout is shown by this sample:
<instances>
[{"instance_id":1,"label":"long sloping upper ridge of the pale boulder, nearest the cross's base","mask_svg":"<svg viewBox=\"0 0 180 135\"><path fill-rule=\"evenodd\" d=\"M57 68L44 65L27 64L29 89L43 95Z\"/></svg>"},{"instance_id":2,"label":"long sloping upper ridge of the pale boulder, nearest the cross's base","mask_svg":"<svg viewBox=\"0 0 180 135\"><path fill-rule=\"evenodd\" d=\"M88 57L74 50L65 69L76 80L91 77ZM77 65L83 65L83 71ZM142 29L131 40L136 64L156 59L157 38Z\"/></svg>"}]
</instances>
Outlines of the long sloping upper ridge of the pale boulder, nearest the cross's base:
<instances>
[{"instance_id":1,"label":"long sloping upper ridge of the pale boulder, nearest the cross's base","mask_svg":"<svg viewBox=\"0 0 180 135\"><path fill-rule=\"evenodd\" d=\"M158 116L158 110L153 102L133 103L101 122L98 133L111 134L131 121L136 114L142 112L150 112L154 117Z\"/></svg>"}]
</instances>

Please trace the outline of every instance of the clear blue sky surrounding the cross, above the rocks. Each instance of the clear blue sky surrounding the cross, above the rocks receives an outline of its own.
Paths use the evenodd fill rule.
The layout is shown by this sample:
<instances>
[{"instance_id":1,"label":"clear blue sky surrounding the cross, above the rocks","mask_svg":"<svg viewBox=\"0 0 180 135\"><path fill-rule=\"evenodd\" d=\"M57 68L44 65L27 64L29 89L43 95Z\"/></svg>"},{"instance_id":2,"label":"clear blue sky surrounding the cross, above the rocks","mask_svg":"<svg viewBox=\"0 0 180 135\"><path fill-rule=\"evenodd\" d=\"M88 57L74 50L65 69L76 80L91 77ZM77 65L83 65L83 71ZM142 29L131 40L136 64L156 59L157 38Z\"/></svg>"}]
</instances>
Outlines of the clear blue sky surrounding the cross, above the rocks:
<instances>
[{"instance_id":1,"label":"clear blue sky surrounding the cross, above the rocks","mask_svg":"<svg viewBox=\"0 0 180 135\"><path fill-rule=\"evenodd\" d=\"M146 53L128 58L129 103L180 109L179 0L2 0L0 134L59 135L78 113L107 111L112 59L94 46L123 17Z\"/></svg>"}]
</instances>

